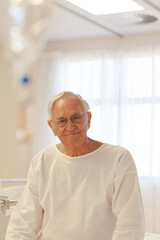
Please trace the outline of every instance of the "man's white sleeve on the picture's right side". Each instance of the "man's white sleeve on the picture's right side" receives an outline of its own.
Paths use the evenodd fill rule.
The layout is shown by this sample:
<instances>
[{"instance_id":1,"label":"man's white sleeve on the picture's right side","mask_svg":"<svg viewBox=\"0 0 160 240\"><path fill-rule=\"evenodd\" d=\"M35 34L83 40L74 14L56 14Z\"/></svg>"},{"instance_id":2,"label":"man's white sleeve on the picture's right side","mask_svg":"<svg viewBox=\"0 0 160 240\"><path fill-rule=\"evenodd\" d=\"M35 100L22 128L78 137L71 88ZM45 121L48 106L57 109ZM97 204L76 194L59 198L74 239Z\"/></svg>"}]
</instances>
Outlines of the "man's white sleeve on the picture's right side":
<instances>
[{"instance_id":1,"label":"man's white sleeve on the picture's right side","mask_svg":"<svg viewBox=\"0 0 160 240\"><path fill-rule=\"evenodd\" d=\"M128 151L120 158L114 180L112 211L117 222L112 240L143 240L144 212L137 170Z\"/></svg>"}]
</instances>

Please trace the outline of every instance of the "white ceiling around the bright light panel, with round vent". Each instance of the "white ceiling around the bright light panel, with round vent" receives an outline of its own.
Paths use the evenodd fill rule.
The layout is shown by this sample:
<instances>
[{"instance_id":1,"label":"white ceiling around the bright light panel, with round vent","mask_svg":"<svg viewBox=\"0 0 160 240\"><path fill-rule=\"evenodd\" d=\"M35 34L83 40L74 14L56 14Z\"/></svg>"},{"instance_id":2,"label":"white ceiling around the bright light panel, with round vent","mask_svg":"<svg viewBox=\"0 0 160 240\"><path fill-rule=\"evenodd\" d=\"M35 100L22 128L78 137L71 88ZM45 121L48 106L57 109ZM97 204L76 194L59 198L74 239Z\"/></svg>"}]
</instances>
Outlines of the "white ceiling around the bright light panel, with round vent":
<instances>
[{"instance_id":1,"label":"white ceiling around the bright light panel, with round vent","mask_svg":"<svg viewBox=\"0 0 160 240\"><path fill-rule=\"evenodd\" d=\"M6 14L6 2L0 0L0 41L7 37L11 24ZM123 14L94 16L65 0L51 0L53 11L49 41L160 32L160 0L136 0L145 10ZM120 0L117 0L120 1Z\"/></svg>"}]
</instances>

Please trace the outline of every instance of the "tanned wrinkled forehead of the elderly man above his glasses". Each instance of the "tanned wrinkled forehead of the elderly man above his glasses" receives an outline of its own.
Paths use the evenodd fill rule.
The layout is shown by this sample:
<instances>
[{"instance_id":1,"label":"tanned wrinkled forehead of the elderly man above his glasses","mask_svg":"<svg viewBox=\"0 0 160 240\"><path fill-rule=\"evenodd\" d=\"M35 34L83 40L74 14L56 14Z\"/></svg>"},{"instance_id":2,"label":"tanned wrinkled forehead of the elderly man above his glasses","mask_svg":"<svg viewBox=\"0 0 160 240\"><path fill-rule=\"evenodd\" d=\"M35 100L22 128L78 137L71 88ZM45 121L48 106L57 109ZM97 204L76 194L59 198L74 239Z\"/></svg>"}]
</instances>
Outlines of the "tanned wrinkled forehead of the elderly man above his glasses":
<instances>
[{"instance_id":1,"label":"tanned wrinkled forehead of the elderly man above his glasses","mask_svg":"<svg viewBox=\"0 0 160 240\"><path fill-rule=\"evenodd\" d=\"M60 113L79 113L84 112L82 101L76 96L62 96L55 101L52 106L53 116Z\"/></svg>"}]
</instances>

